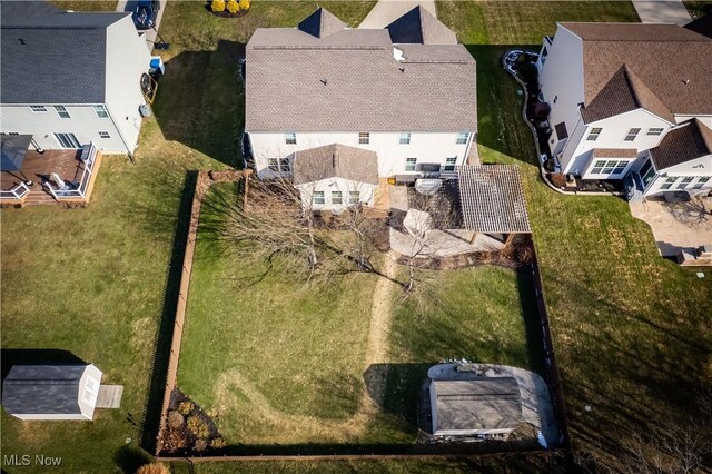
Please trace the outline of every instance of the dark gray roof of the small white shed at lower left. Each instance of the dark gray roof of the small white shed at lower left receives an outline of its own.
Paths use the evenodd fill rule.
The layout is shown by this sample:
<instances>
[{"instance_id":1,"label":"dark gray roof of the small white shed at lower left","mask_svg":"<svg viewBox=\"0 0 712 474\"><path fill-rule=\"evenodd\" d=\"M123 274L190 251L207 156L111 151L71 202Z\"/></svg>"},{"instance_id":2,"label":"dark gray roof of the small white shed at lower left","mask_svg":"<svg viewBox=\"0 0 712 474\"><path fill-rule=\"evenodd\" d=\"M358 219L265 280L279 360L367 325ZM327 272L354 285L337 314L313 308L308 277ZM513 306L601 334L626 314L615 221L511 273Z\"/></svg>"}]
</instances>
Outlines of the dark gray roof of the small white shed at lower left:
<instances>
[{"instance_id":1,"label":"dark gray roof of the small white shed at lower left","mask_svg":"<svg viewBox=\"0 0 712 474\"><path fill-rule=\"evenodd\" d=\"M2 406L11 414L80 414L79 381L87 367L16 365L2 382Z\"/></svg>"}]
</instances>

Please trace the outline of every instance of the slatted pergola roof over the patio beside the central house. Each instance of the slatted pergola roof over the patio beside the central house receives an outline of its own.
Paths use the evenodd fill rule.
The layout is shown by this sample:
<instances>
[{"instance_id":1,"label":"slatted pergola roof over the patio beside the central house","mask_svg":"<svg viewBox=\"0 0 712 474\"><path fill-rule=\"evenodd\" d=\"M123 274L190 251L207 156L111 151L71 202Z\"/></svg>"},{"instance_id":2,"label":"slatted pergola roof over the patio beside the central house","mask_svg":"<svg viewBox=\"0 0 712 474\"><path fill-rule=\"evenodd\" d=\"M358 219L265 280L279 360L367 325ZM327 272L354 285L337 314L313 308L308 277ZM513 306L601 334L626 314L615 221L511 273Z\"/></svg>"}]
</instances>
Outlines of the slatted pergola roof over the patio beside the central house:
<instances>
[{"instance_id":1,"label":"slatted pergola roof over the patio beside the central house","mask_svg":"<svg viewBox=\"0 0 712 474\"><path fill-rule=\"evenodd\" d=\"M457 179L467 230L484 234L532 231L516 165L459 166Z\"/></svg>"}]
</instances>

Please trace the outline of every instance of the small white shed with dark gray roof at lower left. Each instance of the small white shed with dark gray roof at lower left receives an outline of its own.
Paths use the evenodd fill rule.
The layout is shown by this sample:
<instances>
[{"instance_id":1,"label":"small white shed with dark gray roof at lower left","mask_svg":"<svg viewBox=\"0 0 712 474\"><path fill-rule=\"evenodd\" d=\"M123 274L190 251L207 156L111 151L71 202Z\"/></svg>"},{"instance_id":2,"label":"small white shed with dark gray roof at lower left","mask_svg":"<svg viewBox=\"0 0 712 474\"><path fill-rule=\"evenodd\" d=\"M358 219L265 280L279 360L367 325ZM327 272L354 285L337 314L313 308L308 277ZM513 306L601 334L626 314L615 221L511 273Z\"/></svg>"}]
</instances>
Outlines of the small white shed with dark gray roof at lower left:
<instances>
[{"instance_id":1,"label":"small white shed with dark gray roof at lower left","mask_svg":"<svg viewBox=\"0 0 712 474\"><path fill-rule=\"evenodd\" d=\"M101 376L93 364L16 365L2 406L20 419L92 419Z\"/></svg>"}]
</instances>

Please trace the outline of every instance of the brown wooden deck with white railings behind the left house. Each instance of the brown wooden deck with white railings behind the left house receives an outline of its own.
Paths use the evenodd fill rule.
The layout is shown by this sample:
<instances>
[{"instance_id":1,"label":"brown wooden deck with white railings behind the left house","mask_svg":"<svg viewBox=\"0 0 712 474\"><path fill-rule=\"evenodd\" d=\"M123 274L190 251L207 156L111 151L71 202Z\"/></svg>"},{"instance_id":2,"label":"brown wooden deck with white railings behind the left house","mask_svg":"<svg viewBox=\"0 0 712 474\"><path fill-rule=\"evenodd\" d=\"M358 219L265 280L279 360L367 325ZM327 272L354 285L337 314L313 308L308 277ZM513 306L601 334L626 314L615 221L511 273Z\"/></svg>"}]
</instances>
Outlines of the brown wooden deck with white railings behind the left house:
<instances>
[{"instance_id":1,"label":"brown wooden deck with white railings behind the left house","mask_svg":"<svg viewBox=\"0 0 712 474\"><path fill-rule=\"evenodd\" d=\"M58 201L42 187L42 182L49 180L52 172L56 172L62 180L67 182L79 181L85 169L83 162L79 159L80 156L80 149L46 150L43 154L39 154L37 151L28 151L24 157L24 161L22 162L22 172L0 172L0 189L12 189L14 186L21 184L24 177L27 177L27 179L32 181L32 186L30 186L30 192L22 199L3 199L2 206L29 206L39 204L82 205L89 203L93 182L99 171L99 167L101 166L101 151L97 151L93 172L87 188L86 198L65 199L62 201ZM24 177L22 175L24 175Z\"/></svg>"}]
</instances>

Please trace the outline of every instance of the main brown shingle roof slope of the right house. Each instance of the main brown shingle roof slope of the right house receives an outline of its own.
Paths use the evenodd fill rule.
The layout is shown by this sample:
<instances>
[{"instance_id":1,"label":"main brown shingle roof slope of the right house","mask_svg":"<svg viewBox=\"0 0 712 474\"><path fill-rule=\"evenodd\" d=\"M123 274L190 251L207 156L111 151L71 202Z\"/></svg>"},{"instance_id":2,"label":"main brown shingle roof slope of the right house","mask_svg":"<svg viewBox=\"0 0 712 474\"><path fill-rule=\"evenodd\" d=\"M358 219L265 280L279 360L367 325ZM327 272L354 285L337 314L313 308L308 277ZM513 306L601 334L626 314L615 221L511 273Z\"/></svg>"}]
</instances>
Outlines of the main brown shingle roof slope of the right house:
<instances>
[{"instance_id":1,"label":"main brown shingle roof slope of the right house","mask_svg":"<svg viewBox=\"0 0 712 474\"><path fill-rule=\"evenodd\" d=\"M710 61L712 39L675 24L561 23L583 41L584 103L591 107L604 88L621 88L621 100L609 108L630 107L631 95L641 107L663 118L712 112ZM627 77L621 78L625 67ZM613 82L613 85L612 85ZM623 90L627 87L629 91ZM610 96L611 91L606 92ZM625 107L623 107L625 108ZM587 120L589 121L589 120ZM673 120L674 122L674 120Z\"/></svg>"}]
</instances>

